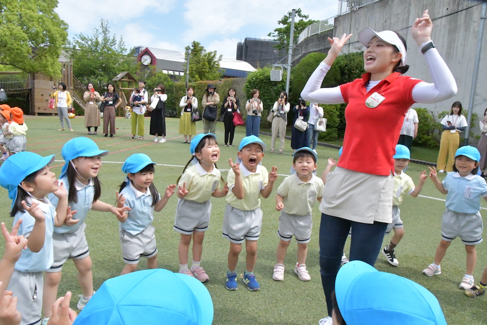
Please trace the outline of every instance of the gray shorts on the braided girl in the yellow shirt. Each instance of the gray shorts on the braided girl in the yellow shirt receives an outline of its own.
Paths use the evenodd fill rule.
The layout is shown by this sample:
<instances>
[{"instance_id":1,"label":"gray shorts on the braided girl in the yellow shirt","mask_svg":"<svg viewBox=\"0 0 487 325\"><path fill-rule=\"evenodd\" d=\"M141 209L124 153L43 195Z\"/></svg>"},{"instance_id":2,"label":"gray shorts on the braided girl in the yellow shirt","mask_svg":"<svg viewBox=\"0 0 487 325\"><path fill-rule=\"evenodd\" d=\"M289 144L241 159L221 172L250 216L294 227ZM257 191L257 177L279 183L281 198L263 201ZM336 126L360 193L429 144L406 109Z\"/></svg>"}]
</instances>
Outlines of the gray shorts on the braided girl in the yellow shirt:
<instances>
[{"instance_id":1,"label":"gray shorts on the braided girl in the yellow shirt","mask_svg":"<svg viewBox=\"0 0 487 325\"><path fill-rule=\"evenodd\" d=\"M193 231L206 231L210 222L210 214L210 200L199 203L178 199L173 229L185 235L190 235Z\"/></svg>"}]
</instances>

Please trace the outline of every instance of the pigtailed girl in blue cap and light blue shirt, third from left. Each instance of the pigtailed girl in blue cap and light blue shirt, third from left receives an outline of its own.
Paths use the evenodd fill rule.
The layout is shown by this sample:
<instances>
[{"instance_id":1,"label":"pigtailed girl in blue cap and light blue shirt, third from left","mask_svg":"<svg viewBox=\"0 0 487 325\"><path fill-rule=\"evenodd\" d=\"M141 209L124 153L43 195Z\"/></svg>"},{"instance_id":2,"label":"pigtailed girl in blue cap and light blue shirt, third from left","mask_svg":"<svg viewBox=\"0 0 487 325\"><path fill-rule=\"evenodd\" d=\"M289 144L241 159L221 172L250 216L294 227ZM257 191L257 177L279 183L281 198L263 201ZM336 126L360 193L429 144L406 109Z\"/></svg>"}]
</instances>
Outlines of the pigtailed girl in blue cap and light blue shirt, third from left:
<instances>
[{"instance_id":1,"label":"pigtailed girl in blue cap and light blue shirt, third from left","mask_svg":"<svg viewBox=\"0 0 487 325\"><path fill-rule=\"evenodd\" d=\"M155 164L147 154L134 153L122 166L122 172L127 174L127 178L120 185L117 207L125 206L130 209L118 218L120 244L125 262L121 274L135 271L140 256L147 258L147 268L157 268L153 213L154 210L159 212L166 206L174 194L176 184L169 185L161 197L152 183Z\"/></svg>"}]
</instances>

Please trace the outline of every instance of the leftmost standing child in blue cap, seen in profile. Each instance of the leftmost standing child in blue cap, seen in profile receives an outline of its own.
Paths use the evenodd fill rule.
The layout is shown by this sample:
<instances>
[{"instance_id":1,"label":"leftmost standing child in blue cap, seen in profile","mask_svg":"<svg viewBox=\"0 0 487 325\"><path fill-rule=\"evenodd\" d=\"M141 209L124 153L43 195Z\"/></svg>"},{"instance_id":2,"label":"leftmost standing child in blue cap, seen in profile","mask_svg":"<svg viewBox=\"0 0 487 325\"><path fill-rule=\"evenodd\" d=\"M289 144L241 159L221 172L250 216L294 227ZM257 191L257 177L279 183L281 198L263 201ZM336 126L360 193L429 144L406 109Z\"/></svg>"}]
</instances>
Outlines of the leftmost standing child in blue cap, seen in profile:
<instances>
[{"instance_id":1,"label":"leftmost standing child in blue cap, seen in profile","mask_svg":"<svg viewBox=\"0 0 487 325\"><path fill-rule=\"evenodd\" d=\"M0 185L12 199L14 225L22 220L18 235L28 239L8 283L8 290L18 297L20 324L40 323L42 311L43 272L51 267L54 227L73 225L68 214L68 193L49 170L54 154L41 157L37 153L20 152L9 157L0 168ZM46 198L54 193L55 208Z\"/></svg>"}]
</instances>

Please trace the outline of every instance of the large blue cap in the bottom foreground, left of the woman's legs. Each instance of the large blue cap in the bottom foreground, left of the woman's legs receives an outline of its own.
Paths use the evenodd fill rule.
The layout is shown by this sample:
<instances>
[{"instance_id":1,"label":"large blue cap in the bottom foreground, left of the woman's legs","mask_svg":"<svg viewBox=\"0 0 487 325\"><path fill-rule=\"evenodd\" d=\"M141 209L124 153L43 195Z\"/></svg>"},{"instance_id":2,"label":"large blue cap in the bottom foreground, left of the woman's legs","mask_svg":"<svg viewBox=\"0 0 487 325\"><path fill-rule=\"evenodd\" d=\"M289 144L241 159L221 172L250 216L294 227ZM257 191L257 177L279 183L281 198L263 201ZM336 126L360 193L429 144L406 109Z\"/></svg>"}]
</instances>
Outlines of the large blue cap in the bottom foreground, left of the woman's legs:
<instances>
[{"instance_id":1,"label":"large blue cap in the bottom foreground, left of the woman's legs","mask_svg":"<svg viewBox=\"0 0 487 325\"><path fill-rule=\"evenodd\" d=\"M75 325L210 325L206 287L186 274L148 269L109 279L81 310Z\"/></svg>"}]
</instances>

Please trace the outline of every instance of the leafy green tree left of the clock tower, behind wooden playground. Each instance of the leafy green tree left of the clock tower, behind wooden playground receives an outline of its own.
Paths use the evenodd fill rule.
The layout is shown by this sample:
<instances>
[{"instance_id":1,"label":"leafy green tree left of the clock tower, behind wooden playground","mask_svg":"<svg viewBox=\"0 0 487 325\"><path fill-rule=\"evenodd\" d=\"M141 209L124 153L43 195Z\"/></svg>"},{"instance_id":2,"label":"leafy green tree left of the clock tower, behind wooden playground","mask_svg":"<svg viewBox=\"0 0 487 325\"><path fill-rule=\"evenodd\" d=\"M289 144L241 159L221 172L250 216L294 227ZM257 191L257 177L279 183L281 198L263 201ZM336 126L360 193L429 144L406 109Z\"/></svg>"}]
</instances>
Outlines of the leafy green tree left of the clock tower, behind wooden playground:
<instances>
[{"instance_id":1,"label":"leafy green tree left of the clock tower, behind wooden playground","mask_svg":"<svg viewBox=\"0 0 487 325\"><path fill-rule=\"evenodd\" d=\"M101 19L93 36L75 35L69 47L73 74L83 83L93 82L96 89L104 89L121 72L135 73L135 57L127 53L122 37L110 34L107 20Z\"/></svg>"}]
</instances>

